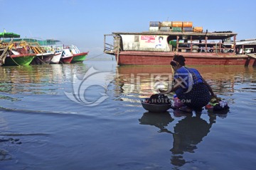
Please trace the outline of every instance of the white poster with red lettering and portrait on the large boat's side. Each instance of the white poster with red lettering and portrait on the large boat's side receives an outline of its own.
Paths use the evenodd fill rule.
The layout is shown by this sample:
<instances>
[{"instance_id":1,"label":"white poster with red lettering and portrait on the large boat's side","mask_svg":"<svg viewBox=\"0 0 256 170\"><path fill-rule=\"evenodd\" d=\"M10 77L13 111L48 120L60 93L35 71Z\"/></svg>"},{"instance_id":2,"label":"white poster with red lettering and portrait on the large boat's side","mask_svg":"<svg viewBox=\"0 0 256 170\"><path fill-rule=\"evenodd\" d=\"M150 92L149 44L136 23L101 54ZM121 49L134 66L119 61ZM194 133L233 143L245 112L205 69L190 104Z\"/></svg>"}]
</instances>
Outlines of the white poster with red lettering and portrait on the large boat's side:
<instances>
[{"instance_id":1,"label":"white poster with red lettering and portrait on the large boat's side","mask_svg":"<svg viewBox=\"0 0 256 170\"><path fill-rule=\"evenodd\" d=\"M140 47L164 48L166 47L166 36L162 35L140 35Z\"/></svg>"}]
</instances>

